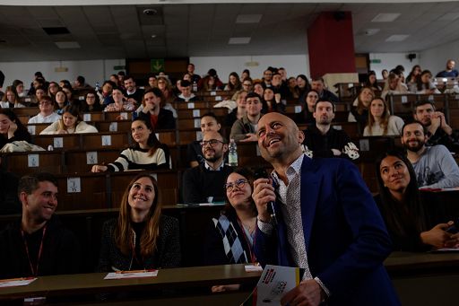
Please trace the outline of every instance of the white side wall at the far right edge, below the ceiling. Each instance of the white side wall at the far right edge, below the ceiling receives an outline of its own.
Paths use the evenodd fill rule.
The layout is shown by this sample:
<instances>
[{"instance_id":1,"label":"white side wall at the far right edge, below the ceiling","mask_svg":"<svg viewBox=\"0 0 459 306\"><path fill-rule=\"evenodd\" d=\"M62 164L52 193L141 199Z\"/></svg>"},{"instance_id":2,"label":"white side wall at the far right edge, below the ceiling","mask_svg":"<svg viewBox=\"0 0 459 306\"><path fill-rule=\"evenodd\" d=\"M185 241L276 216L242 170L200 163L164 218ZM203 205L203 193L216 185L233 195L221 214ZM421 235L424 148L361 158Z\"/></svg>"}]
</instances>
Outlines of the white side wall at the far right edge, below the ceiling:
<instances>
[{"instance_id":1,"label":"white side wall at the far right edge, below the ceiling","mask_svg":"<svg viewBox=\"0 0 459 306\"><path fill-rule=\"evenodd\" d=\"M432 74L445 70L448 59L455 60L455 68L459 66L459 40L446 45L429 48L420 53L420 66L422 69L429 69Z\"/></svg>"}]
</instances>

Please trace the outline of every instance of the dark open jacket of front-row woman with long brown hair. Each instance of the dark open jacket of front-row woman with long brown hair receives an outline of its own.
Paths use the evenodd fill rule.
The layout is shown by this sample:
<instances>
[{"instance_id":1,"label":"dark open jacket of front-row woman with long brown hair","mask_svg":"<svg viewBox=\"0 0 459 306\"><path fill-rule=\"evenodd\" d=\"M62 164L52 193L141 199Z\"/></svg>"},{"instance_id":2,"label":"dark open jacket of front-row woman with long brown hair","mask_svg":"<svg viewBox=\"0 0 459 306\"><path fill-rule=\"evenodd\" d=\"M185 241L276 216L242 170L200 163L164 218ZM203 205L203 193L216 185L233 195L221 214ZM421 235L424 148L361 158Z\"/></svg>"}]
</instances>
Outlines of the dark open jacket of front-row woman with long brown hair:
<instances>
[{"instance_id":1,"label":"dark open jacket of front-row woman with long brown hair","mask_svg":"<svg viewBox=\"0 0 459 306\"><path fill-rule=\"evenodd\" d=\"M114 268L127 271L130 269L133 255L121 253L115 243L115 229L117 219L108 220L102 228L100 241L100 257L98 272L111 272ZM143 258L145 269L158 269L180 266L180 240L178 220L168 215L160 217L160 236L156 242L156 249L149 258Z\"/></svg>"}]
</instances>

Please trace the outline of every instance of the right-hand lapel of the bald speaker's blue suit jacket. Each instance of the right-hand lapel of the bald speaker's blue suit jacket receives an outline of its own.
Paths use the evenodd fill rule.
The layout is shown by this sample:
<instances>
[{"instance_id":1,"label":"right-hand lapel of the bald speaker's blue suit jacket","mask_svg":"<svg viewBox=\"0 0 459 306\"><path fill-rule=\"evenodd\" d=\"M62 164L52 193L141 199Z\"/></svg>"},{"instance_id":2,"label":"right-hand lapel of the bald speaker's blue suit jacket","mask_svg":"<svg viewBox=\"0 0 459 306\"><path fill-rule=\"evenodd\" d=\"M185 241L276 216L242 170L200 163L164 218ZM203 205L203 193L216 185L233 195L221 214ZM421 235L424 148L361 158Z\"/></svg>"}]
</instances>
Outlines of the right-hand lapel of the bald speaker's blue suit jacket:
<instances>
[{"instance_id":1,"label":"right-hand lapel of the bald speaker's blue suit jacket","mask_svg":"<svg viewBox=\"0 0 459 306\"><path fill-rule=\"evenodd\" d=\"M316 174L318 168L307 156L304 157L301 165L301 221L305 237L306 250L309 249L309 238L311 236L316 205L320 188L320 176Z\"/></svg>"}]
</instances>

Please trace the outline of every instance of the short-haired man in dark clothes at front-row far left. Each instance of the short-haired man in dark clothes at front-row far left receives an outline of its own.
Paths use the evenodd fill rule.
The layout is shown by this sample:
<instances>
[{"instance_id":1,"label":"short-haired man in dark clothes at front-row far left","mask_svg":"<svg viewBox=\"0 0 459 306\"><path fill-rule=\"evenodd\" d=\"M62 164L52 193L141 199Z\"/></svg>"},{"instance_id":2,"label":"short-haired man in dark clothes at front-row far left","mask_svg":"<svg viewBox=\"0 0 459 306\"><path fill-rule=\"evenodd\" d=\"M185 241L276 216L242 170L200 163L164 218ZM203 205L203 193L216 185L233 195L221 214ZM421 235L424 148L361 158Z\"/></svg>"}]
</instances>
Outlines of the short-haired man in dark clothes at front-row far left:
<instances>
[{"instance_id":1,"label":"short-haired man in dark clothes at front-row far left","mask_svg":"<svg viewBox=\"0 0 459 306\"><path fill-rule=\"evenodd\" d=\"M0 233L0 279L80 272L80 248L59 221L57 179L33 173L19 181L22 218Z\"/></svg>"}]
</instances>

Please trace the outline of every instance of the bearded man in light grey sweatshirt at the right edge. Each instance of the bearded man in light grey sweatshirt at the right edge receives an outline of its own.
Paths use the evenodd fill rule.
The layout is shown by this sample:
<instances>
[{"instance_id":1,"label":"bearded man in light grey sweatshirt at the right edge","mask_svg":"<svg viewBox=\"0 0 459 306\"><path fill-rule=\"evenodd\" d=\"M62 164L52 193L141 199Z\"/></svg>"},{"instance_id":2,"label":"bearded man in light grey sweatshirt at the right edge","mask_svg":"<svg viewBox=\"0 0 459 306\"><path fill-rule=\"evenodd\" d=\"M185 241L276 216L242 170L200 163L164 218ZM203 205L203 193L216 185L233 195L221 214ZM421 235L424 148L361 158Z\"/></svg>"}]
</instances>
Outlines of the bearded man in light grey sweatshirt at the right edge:
<instances>
[{"instance_id":1,"label":"bearded man in light grey sweatshirt at the right edge","mask_svg":"<svg viewBox=\"0 0 459 306\"><path fill-rule=\"evenodd\" d=\"M445 145L426 146L427 131L419 121L402 129L402 144L407 150L420 188L459 187L459 167Z\"/></svg>"}]
</instances>

